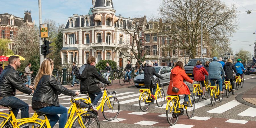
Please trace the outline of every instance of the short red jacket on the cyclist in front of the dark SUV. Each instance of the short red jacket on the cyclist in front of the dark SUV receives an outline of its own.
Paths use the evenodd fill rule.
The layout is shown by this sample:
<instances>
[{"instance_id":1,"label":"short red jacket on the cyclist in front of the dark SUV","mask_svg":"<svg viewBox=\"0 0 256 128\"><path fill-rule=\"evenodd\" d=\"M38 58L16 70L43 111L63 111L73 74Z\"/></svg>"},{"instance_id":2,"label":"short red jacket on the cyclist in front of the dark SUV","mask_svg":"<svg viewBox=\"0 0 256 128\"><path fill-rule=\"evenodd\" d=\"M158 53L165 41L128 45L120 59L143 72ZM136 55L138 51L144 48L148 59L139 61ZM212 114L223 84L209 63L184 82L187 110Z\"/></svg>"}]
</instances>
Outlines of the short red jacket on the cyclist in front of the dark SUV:
<instances>
[{"instance_id":1,"label":"short red jacket on the cyclist in front of the dark SUV","mask_svg":"<svg viewBox=\"0 0 256 128\"><path fill-rule=\"evenodd\" d=\"M197 65L198 66L198 65ZM193 69L193 74L194 74L194 80L195 81L203 81L205 80L205 75L209 75L208 72L206 71L205 67L201 66L195 66Z\"/></svg>"}]
</instances>

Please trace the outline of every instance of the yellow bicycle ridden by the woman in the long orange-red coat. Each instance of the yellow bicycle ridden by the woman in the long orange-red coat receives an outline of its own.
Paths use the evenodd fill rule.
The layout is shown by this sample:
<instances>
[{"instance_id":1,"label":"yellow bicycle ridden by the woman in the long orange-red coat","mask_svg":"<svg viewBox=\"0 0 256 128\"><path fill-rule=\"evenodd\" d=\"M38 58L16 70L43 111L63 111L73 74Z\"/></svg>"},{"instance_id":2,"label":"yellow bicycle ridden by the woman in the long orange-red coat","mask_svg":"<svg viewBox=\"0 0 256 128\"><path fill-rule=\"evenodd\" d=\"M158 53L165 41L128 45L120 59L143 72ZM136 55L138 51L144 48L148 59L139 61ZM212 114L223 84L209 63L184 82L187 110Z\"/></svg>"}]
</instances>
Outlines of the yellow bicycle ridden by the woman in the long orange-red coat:
<instances>
[{"instance_id":1,"label":"yellow bicycle ridden by the woman in the long orange-red coat","mask_svg":"<svg viewBox=\"0 0 256 128\"><path fill-rule=\"evenodd\" d=\"M186 109L187 117L192 118L195 113L195 102L191 94L188 97L189 106L180 105L179 95L166 96L166 117L170 125L175 125L178 121L179 115L184 114Z\"/></svg>"}]
</instances>

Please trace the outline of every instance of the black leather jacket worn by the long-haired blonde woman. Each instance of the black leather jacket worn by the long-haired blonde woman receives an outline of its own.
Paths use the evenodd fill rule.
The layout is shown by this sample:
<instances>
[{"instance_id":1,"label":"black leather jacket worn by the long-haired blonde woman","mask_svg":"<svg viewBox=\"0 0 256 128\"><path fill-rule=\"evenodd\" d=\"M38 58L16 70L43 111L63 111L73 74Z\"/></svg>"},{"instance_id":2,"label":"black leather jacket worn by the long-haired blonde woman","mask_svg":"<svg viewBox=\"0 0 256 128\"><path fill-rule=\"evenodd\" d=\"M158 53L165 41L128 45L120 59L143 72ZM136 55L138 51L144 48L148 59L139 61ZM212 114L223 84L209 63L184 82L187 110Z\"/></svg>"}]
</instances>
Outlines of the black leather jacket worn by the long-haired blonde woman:
<instances>
[{"instance_id":1,"label":"black leather jacket worn by the long-haired blonde woman","mask_svg":"<svg viewBox=\"0 0 256 128\"><path fill-rule=\"evenodd\" d=\"M43 75L34 90L32 100L59 106L58 91L68 96L76 95L74 91L62 86L53 75Z\"/></svg>"}]
</instances>

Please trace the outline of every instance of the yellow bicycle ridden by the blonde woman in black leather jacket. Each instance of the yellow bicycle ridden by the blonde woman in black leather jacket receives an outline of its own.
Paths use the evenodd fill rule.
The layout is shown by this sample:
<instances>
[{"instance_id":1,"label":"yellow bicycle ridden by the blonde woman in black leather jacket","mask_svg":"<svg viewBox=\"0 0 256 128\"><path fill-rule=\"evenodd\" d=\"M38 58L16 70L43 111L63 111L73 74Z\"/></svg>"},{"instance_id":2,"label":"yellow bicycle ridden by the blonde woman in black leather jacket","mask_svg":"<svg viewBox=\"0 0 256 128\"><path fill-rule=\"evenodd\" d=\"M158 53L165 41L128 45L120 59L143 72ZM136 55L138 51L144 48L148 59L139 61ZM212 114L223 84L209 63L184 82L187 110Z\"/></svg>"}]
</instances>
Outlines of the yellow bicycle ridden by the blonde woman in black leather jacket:
<instances>
[{"instance_id":1,"label":"yellow bicycle ridden by the blonde woman in black leather jacket","mask_svg":"<svg viewBox=\"0 0 256 128\"><path fill-rule=\"evenodd\" d=\"M88 127L100 127L100 122L96 115L94 115L94 112L86 112L79 108L77 100L71 97L71 103L72 106L69 108L69 111L71 111L71 114L68 118L68 121L65 125L65 128L88 128ZM84 103L85 104L85 103ZM89 108L90 106L85 106ZM44 119L36 118L36 117L30 117L30 118L24 118L24 119L16 119L13 120L14 126L16 128L26 128L26 127L40 127L40 128L51 128L49 120L46 117L46 114L36 112L40 116L44 116ZM74 114L76 113L76 116L74 117ZM74 118L73 118L74 117Z\"/></svg>"}]
</instances>

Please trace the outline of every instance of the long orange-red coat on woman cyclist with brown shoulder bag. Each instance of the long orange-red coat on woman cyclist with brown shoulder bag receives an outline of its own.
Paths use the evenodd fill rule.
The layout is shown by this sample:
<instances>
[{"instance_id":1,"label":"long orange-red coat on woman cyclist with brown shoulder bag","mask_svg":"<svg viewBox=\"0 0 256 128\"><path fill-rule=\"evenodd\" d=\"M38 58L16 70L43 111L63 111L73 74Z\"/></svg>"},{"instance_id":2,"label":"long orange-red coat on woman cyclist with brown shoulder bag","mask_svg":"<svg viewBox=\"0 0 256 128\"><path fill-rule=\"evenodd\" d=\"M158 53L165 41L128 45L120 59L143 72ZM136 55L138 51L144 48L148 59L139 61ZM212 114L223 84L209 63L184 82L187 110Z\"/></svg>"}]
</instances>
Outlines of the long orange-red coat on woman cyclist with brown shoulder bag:
<instances>
[{"instance_id":1,"label":"long orange-red coat on woman cyclist with brown shoulder bag","mask_svg":"<svg viewBox=\"0 0 256 128\"><path fill-rule=\"evenodd\" d=\"M191 80L187 74L185 73L185 70L181 69L181 67L177 66L172 69L171 75L170 75L170 84L168 86L167 94L168 95L180 95L180 94L190 94L188 86L183 82L185 79L189 83L193 83L193 80ZM175 93L172 91L172 87L179 88L179 92Z\"/></svg>"}]
</instances>

